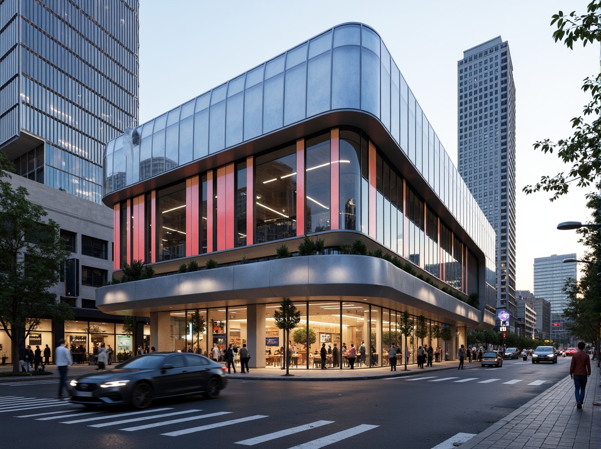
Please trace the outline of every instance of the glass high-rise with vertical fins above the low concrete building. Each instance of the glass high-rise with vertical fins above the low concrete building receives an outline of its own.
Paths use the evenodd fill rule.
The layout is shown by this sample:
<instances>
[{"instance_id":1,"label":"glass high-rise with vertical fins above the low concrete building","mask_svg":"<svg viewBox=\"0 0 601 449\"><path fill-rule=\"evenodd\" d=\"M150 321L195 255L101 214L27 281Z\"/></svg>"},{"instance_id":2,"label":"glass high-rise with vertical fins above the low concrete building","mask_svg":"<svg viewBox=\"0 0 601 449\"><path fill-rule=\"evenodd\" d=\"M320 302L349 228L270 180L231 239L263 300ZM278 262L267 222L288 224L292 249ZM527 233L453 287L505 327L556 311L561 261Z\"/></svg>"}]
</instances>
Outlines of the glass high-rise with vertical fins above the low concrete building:
<instances>
[{"instance_id":1,"label":"glass high-rise with vertical fins above the low concrete building","mask_svg":"<svg viewBox=\"0 0 601 449\"><path fill-rule=\"evenodd\" d=\"M138 0L5 0L0 30L0 149L101 203L104 146L138 117Z\"/></svg>"}]
</instances>

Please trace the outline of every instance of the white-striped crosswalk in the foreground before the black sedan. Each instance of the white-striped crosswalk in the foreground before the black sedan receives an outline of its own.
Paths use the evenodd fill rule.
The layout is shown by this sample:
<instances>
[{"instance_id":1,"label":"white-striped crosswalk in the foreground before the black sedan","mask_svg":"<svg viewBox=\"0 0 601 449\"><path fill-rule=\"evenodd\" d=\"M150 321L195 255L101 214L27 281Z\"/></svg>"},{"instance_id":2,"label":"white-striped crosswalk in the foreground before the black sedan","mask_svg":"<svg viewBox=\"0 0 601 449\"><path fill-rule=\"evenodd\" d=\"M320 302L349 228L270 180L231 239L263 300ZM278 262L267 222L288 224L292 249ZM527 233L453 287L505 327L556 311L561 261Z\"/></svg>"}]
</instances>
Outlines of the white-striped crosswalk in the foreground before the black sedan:
<instances>
[{"instance_id":1,"label":"white-striped crosswalk in the foreground before the black sedan","mask_svg":"<svg viewBox=\"0 0 601 449\"><path fill-rule=\"evenodd\" d=\"M38 411L33 409L49 408L49 410ZM54 408L54 409L52 409ZM59 408L59 410L57 410ZM177 437L193 433L203 432L204 430L215 429L216 427L234 426L236 424L248 423L251 421L265 420L269 421L269 415L249 415L239 416L235 411L217 411L203 412L202 409L191 408L184 410L175 410L172 407L151 408L141 411L118 411L112 412L109 409L89 411L77 405L69 403L67 400L43 399L25 396L0 396L0 413L11 413L15 418L25 418L34 421L50 421L59 424L77 424L78 426L94 427L102 429L108 427L120 430L122 432L136 432L138 430L153 429L160 436ZM272 417L272 420L276 417ZM200 421L201 425L198 425ZM203 424L204 423L206 424ZM263 422L263 421L261 421ZM350 436L356 436L359 433L368 432L379 427L374 424L356 424L352 427L344 425L344 430L340 427L331 431L329 435L327 429L335 421L314 421L312 423L296 425L289 428L278 428L279 420L270 422L269 426L255 426L256 429L267 429L275 427L274 432L252 435L234 444L244 446L254 446L267 441L276 441L282 439L286 445L286 439L290 435L303 433L310 439L312 432L316 429L323 429L326 432L320 432L310 441L288 449L319 449L331 445L338 441L343 441ZM182 425L184 428L181 428ZM171 428L169 428L171 427ZM333 427L332 427L333 428ZM260 433L260 432L258 432ZM233 434L235 435L235 434ZM289 444L289 442L288 442Z\"/></svg>"}]
</instances>

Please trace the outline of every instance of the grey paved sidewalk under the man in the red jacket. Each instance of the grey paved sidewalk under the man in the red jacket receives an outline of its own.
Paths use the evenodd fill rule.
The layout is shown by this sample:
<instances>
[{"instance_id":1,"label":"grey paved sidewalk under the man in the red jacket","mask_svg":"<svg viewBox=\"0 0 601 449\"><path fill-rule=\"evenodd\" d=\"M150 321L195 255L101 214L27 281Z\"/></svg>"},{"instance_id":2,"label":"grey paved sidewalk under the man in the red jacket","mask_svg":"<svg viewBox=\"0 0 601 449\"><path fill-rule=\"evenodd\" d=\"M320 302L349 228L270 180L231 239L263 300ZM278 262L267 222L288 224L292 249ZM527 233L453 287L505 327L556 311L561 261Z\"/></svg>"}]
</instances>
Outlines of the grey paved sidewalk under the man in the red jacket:
<instances>
[{"instance_id":1,"label":"grey paved sidewalk under the man in the red jacket","mask_svg":"<svg viewBox=\"0 0 601 449\"><path fill-rule=\"evenodd\" d=\"M591 368L582 409L576 408L574 381L567 376L463 443L461 448L601 448L601 385L596 361L591 361Z\"/></svg>"}]
</instances>

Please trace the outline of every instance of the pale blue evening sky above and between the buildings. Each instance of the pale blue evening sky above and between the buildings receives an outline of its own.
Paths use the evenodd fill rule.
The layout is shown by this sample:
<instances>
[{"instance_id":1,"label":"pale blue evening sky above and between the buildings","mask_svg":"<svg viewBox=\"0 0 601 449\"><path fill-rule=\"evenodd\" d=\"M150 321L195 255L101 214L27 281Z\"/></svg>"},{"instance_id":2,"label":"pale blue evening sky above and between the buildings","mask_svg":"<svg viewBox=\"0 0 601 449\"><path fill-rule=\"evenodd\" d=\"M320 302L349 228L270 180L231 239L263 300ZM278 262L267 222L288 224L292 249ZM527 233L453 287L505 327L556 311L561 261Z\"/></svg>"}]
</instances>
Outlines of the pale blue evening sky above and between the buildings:
<instances>
[{"instance_id":1,"label":"pale blue evening sky above and between the buildings","mask_svg":"<svg viewBox=\"0 0 601 449\"><path fill-rule=\"evenodd\" d=\"M510 46L516 85L517 289L532 290L534 258L576 252L560 221L587 221L584 192L554 203L521 192L567 166L532 143L572 133L570 118L587 103L582 80L599 71L599 45L568 50L552 39L558 10L588 1L140 1L140 122L255 67L343 22L380 34L424 113L457 160L457 61L463 50L501 35ZM499 8L502 5L502 9Z\"/></svg>"}]
</instances>

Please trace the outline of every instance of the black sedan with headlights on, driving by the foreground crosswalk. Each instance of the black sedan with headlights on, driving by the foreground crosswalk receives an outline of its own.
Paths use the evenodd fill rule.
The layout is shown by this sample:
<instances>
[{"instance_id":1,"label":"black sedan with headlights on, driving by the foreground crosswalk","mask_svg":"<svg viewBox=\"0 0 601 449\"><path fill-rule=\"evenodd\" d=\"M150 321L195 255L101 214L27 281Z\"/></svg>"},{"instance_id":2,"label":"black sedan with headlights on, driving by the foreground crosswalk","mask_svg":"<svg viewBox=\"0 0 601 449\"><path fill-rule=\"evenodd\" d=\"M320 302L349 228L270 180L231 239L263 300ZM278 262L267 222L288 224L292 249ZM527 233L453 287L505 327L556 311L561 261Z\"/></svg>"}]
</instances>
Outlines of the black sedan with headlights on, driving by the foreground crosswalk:
<instances>
[{"instance_id":1,"label":"black sedan with headlights on, driving by the foreground crosswalk","mask_svg":"<svg viewBox=\"0 0 601 449\"><path fill-rule=\"evenodd\" d=\"M225 367L204 355L151 352L73 379L71 402L85 406L131 404L147 408L155 398L203 394L219 396L227 385Z\"/></svg>"}]
</instances>

